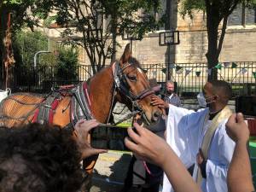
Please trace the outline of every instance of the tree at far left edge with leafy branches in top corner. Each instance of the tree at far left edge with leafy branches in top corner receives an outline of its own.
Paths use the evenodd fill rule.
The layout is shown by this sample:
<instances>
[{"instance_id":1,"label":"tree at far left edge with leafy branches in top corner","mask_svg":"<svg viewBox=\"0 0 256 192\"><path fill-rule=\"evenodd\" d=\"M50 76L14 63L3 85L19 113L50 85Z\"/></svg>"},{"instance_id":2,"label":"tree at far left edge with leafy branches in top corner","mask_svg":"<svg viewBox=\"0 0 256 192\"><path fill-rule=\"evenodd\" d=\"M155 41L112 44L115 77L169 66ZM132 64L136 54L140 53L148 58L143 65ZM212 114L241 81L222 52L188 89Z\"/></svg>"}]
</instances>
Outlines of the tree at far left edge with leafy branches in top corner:
<instances>
[{"instance_id":1,"label":"tree at far left edge with leafy branches in top corner","mask_svg":"<svg viewBox=\"0 0 256 192\"><path fill-rule=\"evenodd\" d=\"M44 0L42 0L44 1ZM38 6L41 0L1 0L0 1L0 68L2 89L8 85L9 69L15 63L11 39L22 26L38 25L38 20L45 18L51 8L51 1ZM29 11L28 11L29 10ZM0 84L1 85L1 84Z\"/></svg>"}]
</instances>

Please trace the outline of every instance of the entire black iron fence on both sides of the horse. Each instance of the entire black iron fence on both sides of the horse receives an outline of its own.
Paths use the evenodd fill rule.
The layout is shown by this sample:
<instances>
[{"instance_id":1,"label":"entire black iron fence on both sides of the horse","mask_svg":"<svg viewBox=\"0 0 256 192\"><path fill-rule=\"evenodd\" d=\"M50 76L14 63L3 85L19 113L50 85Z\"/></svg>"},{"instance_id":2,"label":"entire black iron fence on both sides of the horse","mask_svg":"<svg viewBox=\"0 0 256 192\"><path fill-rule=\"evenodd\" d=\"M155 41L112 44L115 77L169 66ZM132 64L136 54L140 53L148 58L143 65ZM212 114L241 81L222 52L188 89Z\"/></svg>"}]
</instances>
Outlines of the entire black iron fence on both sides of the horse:
<instances>
[{"instance_id":1,"label":"entire black iron fence on both sides of the horse","mask_svg":"<svg viewBox=\"0 0 256 192\"><path fill-rule=\"evenodd\" d=\"M223 79L232 85L234 96L256 95L256 61L221 63L218 79ZM195 96L207 82L206 63L154 63L143 64L148 71L149 79L157 79L165 84L166 76L170 73L173 81L177 82L177 93L180 96ZM213 69L212 69L213 70ZM14 67L12 68L11 89L13 92L29 91L45 93L63 84L77 84L92 76L91 67L79 65L75 69L60 71L58 67Z\"/></svg>"}]
</instances>

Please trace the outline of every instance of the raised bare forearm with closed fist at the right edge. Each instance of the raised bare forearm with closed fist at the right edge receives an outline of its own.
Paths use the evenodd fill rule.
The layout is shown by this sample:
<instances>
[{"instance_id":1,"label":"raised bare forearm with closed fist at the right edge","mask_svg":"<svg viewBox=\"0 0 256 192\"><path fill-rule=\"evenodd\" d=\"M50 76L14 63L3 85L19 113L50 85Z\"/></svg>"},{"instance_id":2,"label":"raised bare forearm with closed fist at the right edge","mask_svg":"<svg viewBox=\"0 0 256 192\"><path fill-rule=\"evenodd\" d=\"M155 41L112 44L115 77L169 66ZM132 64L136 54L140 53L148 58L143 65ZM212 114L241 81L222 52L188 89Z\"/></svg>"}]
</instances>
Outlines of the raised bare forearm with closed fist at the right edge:
<instances>
[{"instance_id":1,"label":"raised bare forearm with closed fist at the right edge","mask_svg":"<svg viewBox=\"0 0 256 192\"><path fill-rule=\"evenodd\" d=\"M236 142L233 158L228 172L230 192L251 192L254 190L250 159L247 152L249 130L241 113L232 114L226 124L226 131Z\"/></svg>"}]
</instances>

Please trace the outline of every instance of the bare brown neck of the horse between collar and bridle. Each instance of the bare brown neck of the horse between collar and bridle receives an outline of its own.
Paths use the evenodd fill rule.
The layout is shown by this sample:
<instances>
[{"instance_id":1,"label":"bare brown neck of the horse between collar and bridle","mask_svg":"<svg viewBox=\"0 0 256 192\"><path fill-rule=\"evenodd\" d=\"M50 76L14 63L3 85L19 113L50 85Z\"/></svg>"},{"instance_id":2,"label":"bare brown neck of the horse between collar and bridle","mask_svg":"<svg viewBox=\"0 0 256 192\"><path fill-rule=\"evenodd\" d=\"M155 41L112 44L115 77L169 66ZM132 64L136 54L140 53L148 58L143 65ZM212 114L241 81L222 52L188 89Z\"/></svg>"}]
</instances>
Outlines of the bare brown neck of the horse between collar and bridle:
<instances>
[{"instance_id":1,"label":"bare brown neck of the horse between collar and bridle","mask_svg":"<svg viewBox=\"0 0 256 192\"><path fill-rule=\"evenodd\" d=\"M104 68L100 73L96 73L90 79L89 86L92 113L98 121L106 123L113 100L113 75L111 67Z\"/></svg>"}]
</instances>

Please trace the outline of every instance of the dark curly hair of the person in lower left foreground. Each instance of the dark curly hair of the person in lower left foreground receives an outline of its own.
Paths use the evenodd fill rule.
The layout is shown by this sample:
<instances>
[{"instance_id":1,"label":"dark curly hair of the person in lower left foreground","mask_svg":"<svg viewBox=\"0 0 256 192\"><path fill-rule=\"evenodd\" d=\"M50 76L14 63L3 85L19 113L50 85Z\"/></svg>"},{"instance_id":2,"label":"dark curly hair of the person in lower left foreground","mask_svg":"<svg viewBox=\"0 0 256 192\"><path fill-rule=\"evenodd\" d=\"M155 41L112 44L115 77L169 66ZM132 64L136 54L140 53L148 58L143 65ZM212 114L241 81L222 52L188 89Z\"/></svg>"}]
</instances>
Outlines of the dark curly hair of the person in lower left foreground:
<instances>
[{"instance_id":1,"label":"dark curly hair of the person in lower left foreground","mask_svg":"<svg viewBox=\"0 0 256 192\"><path fill-rule=\"evenodd\" d=\"M31 124L0 128L0 191L73 192L83 181L72 132Z\"/></svg>"}]
</instances>

